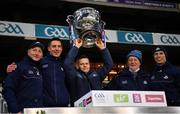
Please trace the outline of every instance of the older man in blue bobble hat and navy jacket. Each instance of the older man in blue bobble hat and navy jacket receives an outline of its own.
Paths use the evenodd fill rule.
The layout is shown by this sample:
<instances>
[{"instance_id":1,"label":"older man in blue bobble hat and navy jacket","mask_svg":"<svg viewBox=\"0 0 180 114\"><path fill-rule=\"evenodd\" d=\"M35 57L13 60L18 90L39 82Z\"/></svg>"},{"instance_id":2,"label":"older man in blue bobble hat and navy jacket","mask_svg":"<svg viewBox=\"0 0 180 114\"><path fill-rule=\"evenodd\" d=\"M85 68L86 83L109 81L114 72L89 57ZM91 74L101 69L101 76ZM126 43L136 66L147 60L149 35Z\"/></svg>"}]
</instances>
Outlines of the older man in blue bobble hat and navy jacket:
<instances>
[{"instance_id":1,"label":"older man in blue bobble hat and navy jacket","mask_svg":"<svg viewBox=\"0 0 180 114\"><path fill-rule=\"evenodd\" d=\"M132 50L127 55L128 67L123 69L118 76L113 78L104 88L106 90L150 90L149 74L141 68L142 53L139 50Z\"/></svg>"}]
</instances>

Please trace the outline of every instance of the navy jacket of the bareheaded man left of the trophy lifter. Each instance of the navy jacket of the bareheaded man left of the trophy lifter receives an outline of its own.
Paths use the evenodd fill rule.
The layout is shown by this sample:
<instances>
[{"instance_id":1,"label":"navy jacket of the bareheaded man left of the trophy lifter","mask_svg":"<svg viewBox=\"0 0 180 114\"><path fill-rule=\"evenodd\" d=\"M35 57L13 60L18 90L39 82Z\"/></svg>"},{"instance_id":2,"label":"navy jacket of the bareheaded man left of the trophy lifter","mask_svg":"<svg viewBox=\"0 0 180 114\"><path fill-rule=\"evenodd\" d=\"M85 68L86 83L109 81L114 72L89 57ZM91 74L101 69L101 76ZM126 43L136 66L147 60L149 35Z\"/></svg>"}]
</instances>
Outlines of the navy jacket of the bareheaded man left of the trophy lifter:
<instances>
[{"instance_id":1,"label":"navy jacket of the bareheaded man left of the trophy lifter","mask_svg":"<svg viewBox=\"0 0 180 114\"><path fill-rule=\"evenodd\" d=\"M63 62L48 54L42 60L45 107L64 107L69 104Z\"/></svg>"}]
</instances>

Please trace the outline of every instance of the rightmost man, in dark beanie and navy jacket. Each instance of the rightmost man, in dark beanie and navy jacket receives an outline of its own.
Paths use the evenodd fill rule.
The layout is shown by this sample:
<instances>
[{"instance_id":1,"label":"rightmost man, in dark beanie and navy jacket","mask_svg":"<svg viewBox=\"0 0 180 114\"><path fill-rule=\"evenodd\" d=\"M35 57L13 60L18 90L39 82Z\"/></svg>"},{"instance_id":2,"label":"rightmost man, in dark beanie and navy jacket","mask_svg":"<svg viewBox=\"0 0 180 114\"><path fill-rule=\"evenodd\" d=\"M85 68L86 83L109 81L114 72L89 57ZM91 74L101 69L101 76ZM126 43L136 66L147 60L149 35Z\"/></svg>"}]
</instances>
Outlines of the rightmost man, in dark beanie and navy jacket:
<instances>
[{"instance_id":1,"label":"rightmost man, in dark beanie and navy jacket","mask_svg":"<svg viewBox=\"0 0 180 114\"><path fill-rule=\"evenodd\" d=\"M164 47L154 50L156 66L151 74L154 91L165 91L168 106L180 106L180 68L169 63Z\"/></svg>"}]
</instances>

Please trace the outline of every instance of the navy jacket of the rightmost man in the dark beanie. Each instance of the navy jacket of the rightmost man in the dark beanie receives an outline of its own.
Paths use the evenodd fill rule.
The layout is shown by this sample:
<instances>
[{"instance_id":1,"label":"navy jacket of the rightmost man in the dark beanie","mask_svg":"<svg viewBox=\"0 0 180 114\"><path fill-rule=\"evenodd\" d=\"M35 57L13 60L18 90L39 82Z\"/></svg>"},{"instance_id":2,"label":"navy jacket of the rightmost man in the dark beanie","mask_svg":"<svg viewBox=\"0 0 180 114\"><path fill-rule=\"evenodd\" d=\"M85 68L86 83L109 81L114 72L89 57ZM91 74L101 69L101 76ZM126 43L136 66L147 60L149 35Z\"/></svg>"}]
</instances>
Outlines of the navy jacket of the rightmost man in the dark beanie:
<instances>
[{"instance_id":1,"label":"navy jacket of the rightmost man in the dark beanie","mask_svg":"<svg viewBox=\"0 0 180 114\"><path fill-rule=\"evenodd\" d=\"M168 105L180 105L180 68L169 62L156 66L151 74L151 86L154 91L165 91Z\"/></svg>"}]
</instances>

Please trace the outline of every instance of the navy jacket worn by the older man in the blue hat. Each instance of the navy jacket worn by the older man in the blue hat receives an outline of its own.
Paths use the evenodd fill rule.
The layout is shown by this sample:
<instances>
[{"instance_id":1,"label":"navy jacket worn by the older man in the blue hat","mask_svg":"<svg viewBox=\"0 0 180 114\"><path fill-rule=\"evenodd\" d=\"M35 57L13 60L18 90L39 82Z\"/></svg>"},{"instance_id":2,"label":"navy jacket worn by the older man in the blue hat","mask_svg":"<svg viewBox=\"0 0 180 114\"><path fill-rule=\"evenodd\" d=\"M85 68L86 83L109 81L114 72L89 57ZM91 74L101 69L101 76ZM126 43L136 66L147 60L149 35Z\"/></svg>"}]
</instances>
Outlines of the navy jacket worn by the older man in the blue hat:
<instances>
[{"instance_id":1,"label":"navy jacket worn by the older man in the blue hat","mask_svg":"<svg viewBox=\"0 0 180 114\"><path fill-rule=\"evenodd\" d=\"M133 74L126 68L113 78L111 82L104 88L106 90L139 90L149 91L150 77L142 69L137 72L134 77Z\"/></svg>"}]
</instances>

